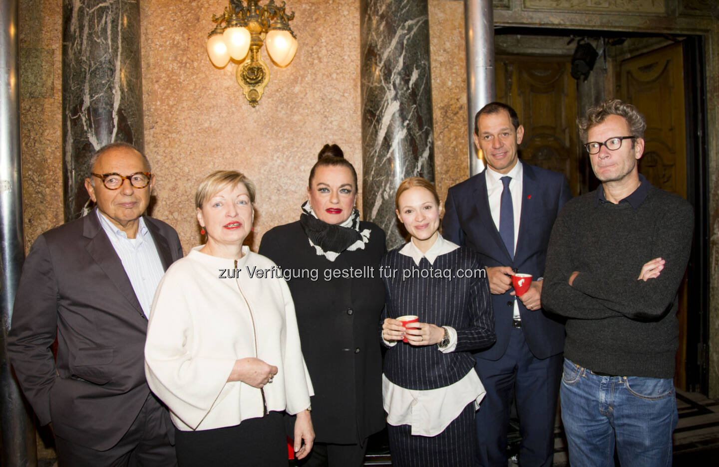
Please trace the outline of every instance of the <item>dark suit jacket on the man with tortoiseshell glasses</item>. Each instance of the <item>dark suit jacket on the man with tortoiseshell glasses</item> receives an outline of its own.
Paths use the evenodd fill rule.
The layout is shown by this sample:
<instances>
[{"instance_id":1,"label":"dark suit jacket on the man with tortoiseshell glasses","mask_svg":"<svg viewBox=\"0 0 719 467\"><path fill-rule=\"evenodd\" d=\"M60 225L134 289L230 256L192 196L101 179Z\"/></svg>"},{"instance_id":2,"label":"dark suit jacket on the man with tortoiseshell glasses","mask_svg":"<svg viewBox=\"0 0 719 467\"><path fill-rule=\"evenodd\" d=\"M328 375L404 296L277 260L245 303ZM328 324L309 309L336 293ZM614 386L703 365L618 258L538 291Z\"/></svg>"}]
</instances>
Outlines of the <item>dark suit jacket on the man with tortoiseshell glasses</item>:
<instances>
[{"instance_id":1,"label":"dark suit jacket on the man with tortoiseshell glasses","mask_svg":"<svg viewBox=\"0 0 719 467\"><path fill-rule=\"evenodd\" d=\"M144 217L167 269L183 255L177 232ZM147 318L96 212L37 237L15 297L8 354L40 423L104 451L137 417ZM50 346L58 338L57 362ZM168 426L171 428L171 425Z\"/></svg>"}]
</instances>

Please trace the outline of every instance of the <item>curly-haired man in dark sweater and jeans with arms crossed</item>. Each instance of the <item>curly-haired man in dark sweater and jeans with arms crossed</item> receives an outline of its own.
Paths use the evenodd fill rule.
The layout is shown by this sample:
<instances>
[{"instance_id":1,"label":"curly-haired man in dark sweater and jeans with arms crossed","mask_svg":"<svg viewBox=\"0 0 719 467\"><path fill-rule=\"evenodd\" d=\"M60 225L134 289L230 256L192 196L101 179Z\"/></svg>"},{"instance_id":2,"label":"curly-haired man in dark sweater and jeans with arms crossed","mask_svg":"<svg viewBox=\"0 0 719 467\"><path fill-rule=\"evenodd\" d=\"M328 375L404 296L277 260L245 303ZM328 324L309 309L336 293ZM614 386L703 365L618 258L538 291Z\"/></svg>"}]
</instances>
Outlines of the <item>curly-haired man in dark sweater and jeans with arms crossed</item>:
<instances>
[{"instance_id":1,"label":"curly-haired man in dark sweater and jeans with arms crossed","mask_svg":"<svg viewBox=\"0 0 719 467\"><path fill-rule=\"evenodd\" d=\"M677 290L693 211L638 173L644 115L621 100L580 121L602 184L554 223L542 302L567 317L562 422L572 467L671 466Z\"/></svg>"}]
</instances>

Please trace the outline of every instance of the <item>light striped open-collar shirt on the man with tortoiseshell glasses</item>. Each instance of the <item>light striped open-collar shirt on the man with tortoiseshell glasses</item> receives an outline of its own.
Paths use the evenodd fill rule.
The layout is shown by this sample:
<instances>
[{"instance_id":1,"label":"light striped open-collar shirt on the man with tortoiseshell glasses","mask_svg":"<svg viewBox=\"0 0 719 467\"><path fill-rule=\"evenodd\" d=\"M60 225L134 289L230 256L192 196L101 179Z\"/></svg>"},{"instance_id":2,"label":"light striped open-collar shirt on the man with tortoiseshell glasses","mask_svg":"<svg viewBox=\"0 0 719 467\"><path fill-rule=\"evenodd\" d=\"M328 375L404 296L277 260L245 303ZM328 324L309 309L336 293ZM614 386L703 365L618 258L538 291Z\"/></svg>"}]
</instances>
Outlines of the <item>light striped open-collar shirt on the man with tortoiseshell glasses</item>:
<instances>
[{"instance_id":1,"label":"light striped open-collar shirt on the man with tortoiseshell glasses","mask_svg":"<svg viewBox=\"0 0 719 467\"><path fill-rule=\"evenodd\" d=\"M150 316L152 298L155 298L157 284L165 274L165 268L162 267L155 241L152 240L152 234L147 229L145 220L142 217L138 220L137 237L127 238L127 234L110 222L100 209L96 209L96 212L100 225L122 261L122 267L132 284L132 290L142 306L142 312L145 316Z\"/></svg>"}]
</instances>

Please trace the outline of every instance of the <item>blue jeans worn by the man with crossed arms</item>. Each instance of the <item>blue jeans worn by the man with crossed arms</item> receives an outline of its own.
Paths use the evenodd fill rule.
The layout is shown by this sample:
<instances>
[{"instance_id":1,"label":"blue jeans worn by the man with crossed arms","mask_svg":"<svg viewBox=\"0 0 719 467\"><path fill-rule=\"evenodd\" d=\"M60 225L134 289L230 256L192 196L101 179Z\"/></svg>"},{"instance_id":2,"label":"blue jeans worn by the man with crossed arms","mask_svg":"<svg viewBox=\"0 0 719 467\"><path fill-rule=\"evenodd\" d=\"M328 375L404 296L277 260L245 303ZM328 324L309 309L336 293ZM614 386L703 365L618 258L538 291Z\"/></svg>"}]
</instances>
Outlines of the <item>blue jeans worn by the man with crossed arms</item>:
<instances>
[{"instance_id":1,"label":"blue jeans worn by the man with crossed arms","mask_svg":"<svg viewBox=\"0 0 719 467\"><path fill-rule=\"evenodd\" d=\"M572 467L672 465L677 400L671 378L600 376L564 359L562 423Z\"/></svg>"}]
</instances>

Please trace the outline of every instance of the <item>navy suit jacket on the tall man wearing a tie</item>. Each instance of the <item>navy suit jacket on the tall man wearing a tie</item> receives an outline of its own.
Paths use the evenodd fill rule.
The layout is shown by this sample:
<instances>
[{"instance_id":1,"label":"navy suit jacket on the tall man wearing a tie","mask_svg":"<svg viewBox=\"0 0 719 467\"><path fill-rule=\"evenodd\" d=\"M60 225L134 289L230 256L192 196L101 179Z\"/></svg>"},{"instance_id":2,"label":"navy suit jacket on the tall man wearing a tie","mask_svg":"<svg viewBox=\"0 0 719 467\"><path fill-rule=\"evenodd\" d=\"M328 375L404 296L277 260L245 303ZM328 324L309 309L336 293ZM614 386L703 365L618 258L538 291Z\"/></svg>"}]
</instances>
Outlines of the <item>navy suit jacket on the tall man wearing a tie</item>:
<instances>
[{"instance_id":1,"label":"navy suit jacket on the tall man wearing a tie","mask_svg":"<svg viewBox=\"0 0 719 467\"><path fill-rule=\"evenodd\" d=\"M522 211L514 260L510 258L492 220L484 171L449 189L444 205L446 212L442 220L442 235L457 245L471 247L480 254L487 267L510 266L536 279L544 275L551 227L572 193L563 174L522 161L520 164L523 164ZM512 290L510 288L503 295L492 295L497 342L479 352L478 355L484 359L500 359L507 349L514 306L514 297L509 295ZM544 359L562 352L562 321L548 316L543 310L528 311L519 300L517 303L524 337L532 354Z\"/></svg>"}]
</instances>

